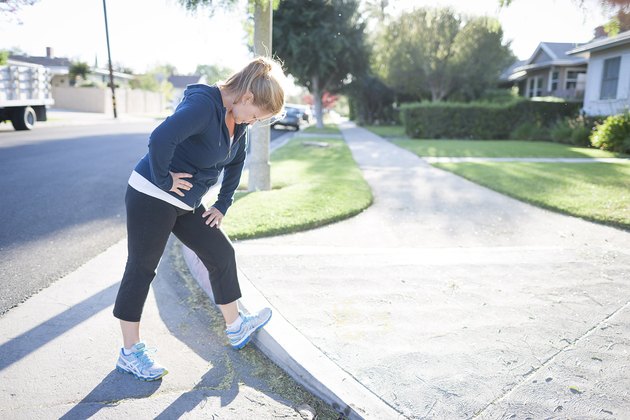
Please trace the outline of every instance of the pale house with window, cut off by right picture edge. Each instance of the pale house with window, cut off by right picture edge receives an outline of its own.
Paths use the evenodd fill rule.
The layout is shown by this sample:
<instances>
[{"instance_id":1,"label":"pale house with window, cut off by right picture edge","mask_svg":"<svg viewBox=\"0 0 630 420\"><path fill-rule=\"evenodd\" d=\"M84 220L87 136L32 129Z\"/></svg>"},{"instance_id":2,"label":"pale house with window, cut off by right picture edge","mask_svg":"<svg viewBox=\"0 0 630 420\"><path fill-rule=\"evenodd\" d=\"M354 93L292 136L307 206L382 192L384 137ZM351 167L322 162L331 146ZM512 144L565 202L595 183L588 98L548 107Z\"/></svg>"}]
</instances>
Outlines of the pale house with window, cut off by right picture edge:
<instances>
[{"instance_id":1,"label":"pale house with window, cut off by right picture edge","mask_svg":"<svg viewBox=\"0 0 630 420\"><path fill-rule=\"evenodd\" d=\"M586 114L614 115L630 109L630 31L595 39L568 54L588 59Z\"/></svg>"}]
</instances>

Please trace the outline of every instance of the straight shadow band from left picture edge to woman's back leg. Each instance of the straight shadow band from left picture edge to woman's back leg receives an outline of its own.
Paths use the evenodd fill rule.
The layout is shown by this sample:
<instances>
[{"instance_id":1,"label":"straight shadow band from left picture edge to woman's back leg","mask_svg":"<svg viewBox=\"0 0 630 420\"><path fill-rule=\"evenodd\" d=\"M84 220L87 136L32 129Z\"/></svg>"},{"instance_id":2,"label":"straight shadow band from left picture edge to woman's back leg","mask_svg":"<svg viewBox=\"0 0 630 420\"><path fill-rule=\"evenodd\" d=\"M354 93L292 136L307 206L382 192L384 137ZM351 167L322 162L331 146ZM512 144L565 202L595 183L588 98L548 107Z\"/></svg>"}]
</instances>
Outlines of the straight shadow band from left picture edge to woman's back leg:
<instances>
[{"instance_id":1,"label":"straight shadow band from left picture edge to woman's back leg","mask_svg":"<svg viewBox=\"0 0 630 420\"><path fill-rule=\"evenodd\" d=\"M0 345L0 371L110 306L114 302L119 284L116 283L101 290L37 327Z\"/></svg>"}]
</instances>

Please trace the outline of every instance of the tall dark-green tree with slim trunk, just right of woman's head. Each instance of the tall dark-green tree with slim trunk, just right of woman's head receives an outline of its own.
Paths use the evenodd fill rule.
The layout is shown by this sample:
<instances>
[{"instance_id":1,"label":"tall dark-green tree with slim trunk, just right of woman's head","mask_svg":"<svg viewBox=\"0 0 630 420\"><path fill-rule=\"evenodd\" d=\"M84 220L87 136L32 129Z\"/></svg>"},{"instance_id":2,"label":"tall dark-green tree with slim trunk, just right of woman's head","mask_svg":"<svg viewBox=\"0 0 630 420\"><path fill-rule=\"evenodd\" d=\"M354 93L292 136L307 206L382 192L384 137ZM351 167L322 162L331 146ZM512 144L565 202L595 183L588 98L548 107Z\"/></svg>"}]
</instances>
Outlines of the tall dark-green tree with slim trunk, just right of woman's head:
<instances>
[{"instance_id":1,"label":"tall dark-green tree with slim trunk, just right of woman's head","mask_svg":"<svg viewBox=\"0 0 630 420\"><path fill-rule=\"evenodd\" d=\"M309 89L317 126L323 127L323 92L338 92L369 67L358 1L284 0L274 12L273 29L275 55Z\"/></svg>"}]
</instances>

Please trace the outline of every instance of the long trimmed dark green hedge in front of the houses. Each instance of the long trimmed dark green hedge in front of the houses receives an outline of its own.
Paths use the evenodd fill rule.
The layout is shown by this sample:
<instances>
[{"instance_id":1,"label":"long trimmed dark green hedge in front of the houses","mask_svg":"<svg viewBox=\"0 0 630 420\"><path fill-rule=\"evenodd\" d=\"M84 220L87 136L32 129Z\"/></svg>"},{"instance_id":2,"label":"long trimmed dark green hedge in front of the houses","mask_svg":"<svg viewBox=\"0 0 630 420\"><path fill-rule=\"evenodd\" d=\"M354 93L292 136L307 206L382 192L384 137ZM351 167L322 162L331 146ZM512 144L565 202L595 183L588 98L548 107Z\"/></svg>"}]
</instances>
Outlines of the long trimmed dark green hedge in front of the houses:
<instances>
[{"instance_id":1,"label":"long trimmed dark green hedge in front of the houses","mask_svg":"<svg viewBox=\"0 0 630 420\"><path fill-rule=\"evenodd\" d=\"M405 133L423 139L510 138L523 124L551 127L579 113L580 104L519 100L508 104L422 102L401 106Z\"/></svg>"}]
</instances>

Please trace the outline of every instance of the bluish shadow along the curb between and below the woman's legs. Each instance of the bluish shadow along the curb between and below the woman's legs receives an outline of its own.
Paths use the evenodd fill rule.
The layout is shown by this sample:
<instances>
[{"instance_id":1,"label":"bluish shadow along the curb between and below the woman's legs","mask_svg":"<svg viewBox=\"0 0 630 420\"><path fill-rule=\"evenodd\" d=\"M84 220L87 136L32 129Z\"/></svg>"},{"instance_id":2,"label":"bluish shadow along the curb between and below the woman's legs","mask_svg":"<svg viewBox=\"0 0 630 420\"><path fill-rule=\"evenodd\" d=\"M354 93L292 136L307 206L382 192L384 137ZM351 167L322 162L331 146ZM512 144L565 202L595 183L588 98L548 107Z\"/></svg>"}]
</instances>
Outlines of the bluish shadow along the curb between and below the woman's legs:
<instances>
[{"instance_id":1,"label":"bluish shadow along the curb between and below the woman's legs","mask_svg":"<svg viewBox=\"0 0 630 420\"><path fill-rule=\"evenodd\" d=\"M173 237L163 259L166 264L160 265L160 278L152 285L160 317L174 337L211 362L212 368L157 418L179 418L212 397L226 407L237 398L241 386L289 407L295 407L295 401L313 399L258 350L229 347L219 309L189 274L181 243Z\"/></svg>"}]
</instances>

